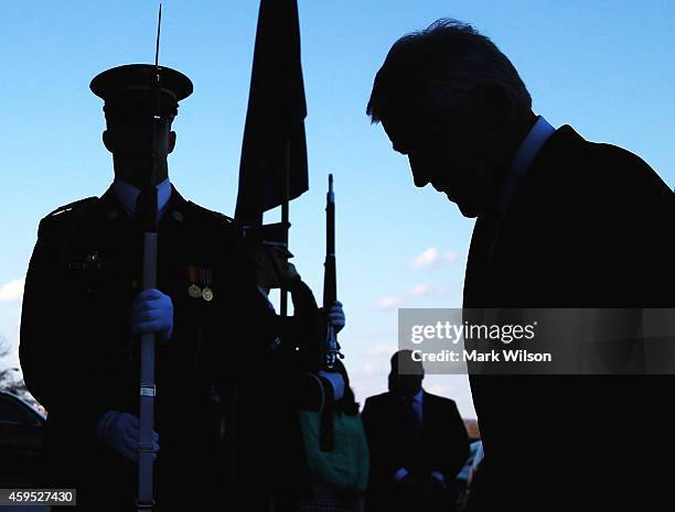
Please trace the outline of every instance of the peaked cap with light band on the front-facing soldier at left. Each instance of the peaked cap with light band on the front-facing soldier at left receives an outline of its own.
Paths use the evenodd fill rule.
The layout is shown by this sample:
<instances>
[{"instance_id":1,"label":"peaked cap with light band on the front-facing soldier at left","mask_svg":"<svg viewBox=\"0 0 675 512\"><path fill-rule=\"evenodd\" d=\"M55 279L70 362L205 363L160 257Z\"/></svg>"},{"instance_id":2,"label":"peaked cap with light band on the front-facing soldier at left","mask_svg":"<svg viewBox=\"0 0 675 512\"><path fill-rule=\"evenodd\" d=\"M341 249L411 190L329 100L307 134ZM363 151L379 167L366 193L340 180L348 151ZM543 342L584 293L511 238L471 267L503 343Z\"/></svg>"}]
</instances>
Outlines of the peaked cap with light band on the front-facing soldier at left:
<instances>
[{"instance_id":1,"label":"peaked cap with light band on the front-facing soldier at left","mask_svg":"<svg viewBox=\"0 0 675 512\"><path fill-rule=\"evenodd\" d=\"M175 111L178 102L192 94L192 81L181 72L170 67L159 66L159 72L162 109ZM107 106L130 99L151 101L154 73L156 67L152 64L127 64L96 75L89 88Z\"/></svg>"}]
</instances>

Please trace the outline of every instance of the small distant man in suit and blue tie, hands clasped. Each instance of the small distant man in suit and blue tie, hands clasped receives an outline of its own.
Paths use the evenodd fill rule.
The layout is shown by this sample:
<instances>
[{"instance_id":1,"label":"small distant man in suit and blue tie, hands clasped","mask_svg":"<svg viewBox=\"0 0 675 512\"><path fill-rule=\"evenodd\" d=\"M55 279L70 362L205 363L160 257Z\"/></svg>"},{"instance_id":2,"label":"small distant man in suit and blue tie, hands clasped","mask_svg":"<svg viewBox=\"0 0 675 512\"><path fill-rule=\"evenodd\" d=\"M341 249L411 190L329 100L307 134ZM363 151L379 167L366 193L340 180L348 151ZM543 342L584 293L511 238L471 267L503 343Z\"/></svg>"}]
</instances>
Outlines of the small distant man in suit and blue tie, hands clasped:
<instances>
[{"instance_id":1,"label":"small distant man in suit and blue tie, hands clasped","mask_svg":"<svg viewBox=\"0 0 675 512\"><path fill-rule=\"evenodd\" d=\"M457 405L422 390L424 368L410 355L392 357L389 391L367 399L363 410L371 512L453 510L452 482L469 456Z\"/></svg>"}]
</instances>

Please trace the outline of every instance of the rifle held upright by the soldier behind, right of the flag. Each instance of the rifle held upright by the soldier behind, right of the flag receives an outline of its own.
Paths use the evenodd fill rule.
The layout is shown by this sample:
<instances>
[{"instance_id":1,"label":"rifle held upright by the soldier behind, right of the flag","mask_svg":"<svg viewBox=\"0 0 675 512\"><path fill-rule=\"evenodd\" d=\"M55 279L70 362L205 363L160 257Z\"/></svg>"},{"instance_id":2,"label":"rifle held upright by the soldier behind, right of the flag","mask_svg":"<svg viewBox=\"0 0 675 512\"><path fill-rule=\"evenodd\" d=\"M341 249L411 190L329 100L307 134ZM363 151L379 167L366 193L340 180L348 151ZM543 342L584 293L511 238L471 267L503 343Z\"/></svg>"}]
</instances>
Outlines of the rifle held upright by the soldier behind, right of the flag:
<instances>
[{"instance_id":1,"label":"rifle held upright by the soldier behind, right of the flag","mask_svg":"<svg viewBox=\"0 0 675 512\"><path fill-rule=\"evenodd\" d=\"M325 339L321 347L321 368L332 371L340 352L338 335L331 325L328 311L338 299L338 281L335 276L335 194L333 193L333 175L329 174L329 192L325 197L325 261L323 263L323 311L325 313ZM321 451L331 451L334 443L334 406L323 407L321 412L321 432L319 436Z\"/></svg>"}]
</instances>

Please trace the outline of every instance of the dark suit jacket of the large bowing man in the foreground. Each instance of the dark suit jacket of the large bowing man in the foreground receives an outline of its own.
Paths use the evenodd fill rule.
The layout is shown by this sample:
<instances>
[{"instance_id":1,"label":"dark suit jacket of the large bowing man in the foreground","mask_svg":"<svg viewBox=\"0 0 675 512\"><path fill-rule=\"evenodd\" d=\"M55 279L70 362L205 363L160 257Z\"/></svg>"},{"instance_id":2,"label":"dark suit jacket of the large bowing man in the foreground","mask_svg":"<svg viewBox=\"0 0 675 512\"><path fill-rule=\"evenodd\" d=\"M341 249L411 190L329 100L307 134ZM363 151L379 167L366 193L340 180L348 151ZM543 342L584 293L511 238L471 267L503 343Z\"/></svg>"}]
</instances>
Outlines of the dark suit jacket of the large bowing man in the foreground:
<instances>
[{"instance_id":1,"label":"dark suit jacket of the large bowing man in the foreground","mask_svg":"<svg viewBox=\"0 0 675 512\"><path fill-rule=\"evenodd\" d=\"M500 229L489 217L476 220L464 307L634 308L629 315L672 307L673 206L671 189L638 156L565 126L540 149ZM619 312L617 322L625 319ZM672 377L470 381L489 510L610 510L631 500L644 505L665 489L647 484L647 475L651 482L658 475L645 468L675 455Z\"/></svg>"}]
</instances>

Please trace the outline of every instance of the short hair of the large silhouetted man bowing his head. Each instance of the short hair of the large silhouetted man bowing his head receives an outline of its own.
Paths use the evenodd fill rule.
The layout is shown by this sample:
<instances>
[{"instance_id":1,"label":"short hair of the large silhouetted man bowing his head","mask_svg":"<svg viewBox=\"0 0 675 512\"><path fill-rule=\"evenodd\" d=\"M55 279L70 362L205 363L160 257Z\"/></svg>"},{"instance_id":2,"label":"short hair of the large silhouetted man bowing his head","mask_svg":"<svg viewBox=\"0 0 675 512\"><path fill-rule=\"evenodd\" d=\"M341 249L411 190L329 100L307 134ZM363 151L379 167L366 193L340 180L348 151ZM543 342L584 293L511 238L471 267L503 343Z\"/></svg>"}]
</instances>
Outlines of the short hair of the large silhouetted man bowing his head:
<instances>
[{"instance_id":1,"label":"short hair of the large silhouetted man bowing his head","mask_svg":"<svg viewBox=\"0 0 675 512\"><path fill-rule=\"evenodd\" d=\"M366 113L376 123L420 100L440 99L452 107L453 90L469 91L483 83L496 83L514 104L532 107L518 72L489 37L467 23L440 19L394 43L375 76Z\"/></svg>"}]
</instances>

